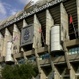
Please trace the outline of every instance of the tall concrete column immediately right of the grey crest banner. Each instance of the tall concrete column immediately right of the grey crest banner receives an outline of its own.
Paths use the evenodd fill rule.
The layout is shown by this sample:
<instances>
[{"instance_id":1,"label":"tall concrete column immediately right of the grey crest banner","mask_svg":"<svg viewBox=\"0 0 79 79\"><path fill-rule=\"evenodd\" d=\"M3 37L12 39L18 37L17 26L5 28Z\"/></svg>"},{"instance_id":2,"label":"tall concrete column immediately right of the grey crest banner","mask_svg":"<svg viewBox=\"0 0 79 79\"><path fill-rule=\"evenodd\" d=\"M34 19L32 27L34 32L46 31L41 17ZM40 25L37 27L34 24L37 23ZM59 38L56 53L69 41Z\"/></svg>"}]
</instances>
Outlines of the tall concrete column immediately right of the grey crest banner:
<instances>
[{"instance_id":1,"label":"tall concrete column immediately right of the grey crest banner","mask_svg":"<svg viewBox=\"0 0 79 79\"><path fill-rule=\"evenodd\" d=\"M39 73L41 73L41 67L40 67L40 63L39 63L39 56L38 56L38 47L40 47L38 45L38 41L40 40L38 37L40 37L41 35L39 34L39 29L41 28L41 24L38 21L38 18L36 16L36 14L34 15L34 38L33 38L33 48L35 49L35 56L36 56L36 63L38 66L38 71ZM40 37L41 38L41 37Z\"/></svg>"}]
</instances>

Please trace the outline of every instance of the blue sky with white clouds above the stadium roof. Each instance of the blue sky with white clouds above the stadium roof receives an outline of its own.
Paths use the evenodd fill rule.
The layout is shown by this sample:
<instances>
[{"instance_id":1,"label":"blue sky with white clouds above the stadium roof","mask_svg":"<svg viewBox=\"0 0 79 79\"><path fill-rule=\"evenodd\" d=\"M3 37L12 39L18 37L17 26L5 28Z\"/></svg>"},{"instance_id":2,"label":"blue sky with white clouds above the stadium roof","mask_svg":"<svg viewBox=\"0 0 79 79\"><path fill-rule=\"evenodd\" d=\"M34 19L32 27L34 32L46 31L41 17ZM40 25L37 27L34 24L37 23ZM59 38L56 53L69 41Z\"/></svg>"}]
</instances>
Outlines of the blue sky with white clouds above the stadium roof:
<instances>
[{"instance_id":1,"label":"blue sky with white clouds above the stadium roof","mask_svg":"<svg viewBox=\"0 0 79 79\"><path fill-rule=\"evenodd\" d=\"M23 10L29 0L0 0L0 20Z\"/></svg>"}]
</instances>

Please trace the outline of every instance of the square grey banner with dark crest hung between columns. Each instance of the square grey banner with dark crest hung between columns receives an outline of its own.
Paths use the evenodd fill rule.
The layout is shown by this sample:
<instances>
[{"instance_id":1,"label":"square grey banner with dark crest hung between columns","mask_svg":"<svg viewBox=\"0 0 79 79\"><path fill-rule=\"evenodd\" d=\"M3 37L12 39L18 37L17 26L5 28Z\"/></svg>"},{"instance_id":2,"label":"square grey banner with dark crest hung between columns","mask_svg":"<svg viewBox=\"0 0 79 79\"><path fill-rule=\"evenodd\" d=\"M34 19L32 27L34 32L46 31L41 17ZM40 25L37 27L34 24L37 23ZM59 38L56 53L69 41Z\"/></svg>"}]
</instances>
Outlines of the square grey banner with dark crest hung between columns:
<instances>
[{"instance_id":1,"label":"square grey banner with dark crest hung between columns","mask_svg":"<svg viewBox=\"0 0 79 79\"><path fill-rule=\"evenodd\" d=\"M28 25L21 31L21 46L29 45L33 43L34 27Z\"/></svg>"}]
</instances>

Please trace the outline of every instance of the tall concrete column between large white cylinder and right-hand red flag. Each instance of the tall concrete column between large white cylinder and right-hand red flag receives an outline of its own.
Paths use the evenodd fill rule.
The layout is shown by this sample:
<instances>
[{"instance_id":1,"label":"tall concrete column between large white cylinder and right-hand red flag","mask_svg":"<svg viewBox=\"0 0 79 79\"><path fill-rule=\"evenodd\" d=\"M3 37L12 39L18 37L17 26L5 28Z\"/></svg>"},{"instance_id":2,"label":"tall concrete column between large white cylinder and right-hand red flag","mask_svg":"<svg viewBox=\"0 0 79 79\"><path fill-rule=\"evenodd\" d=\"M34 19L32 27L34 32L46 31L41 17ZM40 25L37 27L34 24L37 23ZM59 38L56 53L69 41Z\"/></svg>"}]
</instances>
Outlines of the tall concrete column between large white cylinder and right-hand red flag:
<instances>
[{"instance_id":1,"label":"tall concrete column between large white cylinder and right-hand red flag","mask_svg":"<svg viewBox=\"0 0 79 79\"><path fill-rule=\"evenodd\" d=\"M69 34L68 34L68 14L64 8L64 5L63 3L60 4L60 15L61 15L61 41L65 41L65 40L68 40L69 39ZM68 59L68 56L67 56L67 53L68 53L68 50L66 48L66 45L65 45L65 42L63 43L63 50L65 51L65 59L66 59L66 62L67 62L67 66L68 66L68 69L70 69L70 62L69 62L69 59Z\"/></svg>"}]
</instances>

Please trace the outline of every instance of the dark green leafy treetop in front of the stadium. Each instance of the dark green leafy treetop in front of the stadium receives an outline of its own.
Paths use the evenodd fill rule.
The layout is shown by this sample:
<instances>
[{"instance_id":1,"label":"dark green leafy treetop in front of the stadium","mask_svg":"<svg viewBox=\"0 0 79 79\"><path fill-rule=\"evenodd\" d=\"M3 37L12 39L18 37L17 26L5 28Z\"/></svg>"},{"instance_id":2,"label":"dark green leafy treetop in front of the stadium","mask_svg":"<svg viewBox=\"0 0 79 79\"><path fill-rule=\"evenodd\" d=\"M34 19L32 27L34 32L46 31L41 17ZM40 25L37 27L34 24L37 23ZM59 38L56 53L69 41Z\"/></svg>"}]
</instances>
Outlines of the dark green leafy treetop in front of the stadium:
<instances>
[{"instance_id":1,"label":"dark green leafy treetop in front of the stadium","mask_svg":"<svg viewBox=\"0 0 79 79\"><path fill-rule=\"evenodd\" d=\"M3 79L31 79L32 76L37 74L37 67L30 63L14 66L6 65L2 69Z\"/></svg>"}]
</instances>

